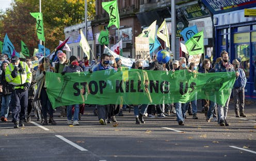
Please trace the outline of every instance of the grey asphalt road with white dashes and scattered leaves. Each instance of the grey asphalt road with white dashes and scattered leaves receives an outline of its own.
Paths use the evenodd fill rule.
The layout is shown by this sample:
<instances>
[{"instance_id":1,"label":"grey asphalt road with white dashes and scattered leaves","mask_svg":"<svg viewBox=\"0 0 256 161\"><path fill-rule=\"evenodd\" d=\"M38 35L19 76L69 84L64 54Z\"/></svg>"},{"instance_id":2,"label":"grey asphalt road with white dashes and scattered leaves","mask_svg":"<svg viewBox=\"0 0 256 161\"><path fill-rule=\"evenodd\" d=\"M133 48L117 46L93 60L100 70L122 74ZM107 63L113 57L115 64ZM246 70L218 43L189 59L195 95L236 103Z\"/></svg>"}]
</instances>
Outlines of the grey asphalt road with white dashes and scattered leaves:
<instances>
[{"instance_id":1,"label":"grey asphalt road with white dashes and scattered leaves","mask_svg":"<svg viewBox=\"0 0 256 161\"><path fill-rule=\"evenodd\" d=\"M185 126L175 117L135 124L133 111L117 117L117 127L101 126L92 110L86 108L79 126L68 126L58 112L57 125L44 129L31 122L19 129L0 122L0 160L256 160L253 103L246 118L235 118L231 108L229 127L208 123L201 113L198 120L188 116Z\"/></svg>"}]
</instances>

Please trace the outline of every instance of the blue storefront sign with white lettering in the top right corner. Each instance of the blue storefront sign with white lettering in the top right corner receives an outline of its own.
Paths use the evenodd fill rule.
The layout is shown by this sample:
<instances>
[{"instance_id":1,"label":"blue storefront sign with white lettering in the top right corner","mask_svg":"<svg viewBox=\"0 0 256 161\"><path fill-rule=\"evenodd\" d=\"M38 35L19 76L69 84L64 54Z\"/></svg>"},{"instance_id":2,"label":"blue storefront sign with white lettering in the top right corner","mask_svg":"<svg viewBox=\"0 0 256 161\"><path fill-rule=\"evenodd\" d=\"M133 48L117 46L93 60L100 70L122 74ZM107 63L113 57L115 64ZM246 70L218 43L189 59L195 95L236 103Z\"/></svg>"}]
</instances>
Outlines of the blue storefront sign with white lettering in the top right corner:
<instances>
[{"instance_id":1,"label":"blue storefront sign with white lettering in the top right corner","mask_svg":"<svg viewBox=\"0 0 256 161\"><path fill-rule=\"evenodd\" d=\"M202 0L203 4L213 13L225 13L256 6L256 0Z\"/></svg>"}]
</instances>

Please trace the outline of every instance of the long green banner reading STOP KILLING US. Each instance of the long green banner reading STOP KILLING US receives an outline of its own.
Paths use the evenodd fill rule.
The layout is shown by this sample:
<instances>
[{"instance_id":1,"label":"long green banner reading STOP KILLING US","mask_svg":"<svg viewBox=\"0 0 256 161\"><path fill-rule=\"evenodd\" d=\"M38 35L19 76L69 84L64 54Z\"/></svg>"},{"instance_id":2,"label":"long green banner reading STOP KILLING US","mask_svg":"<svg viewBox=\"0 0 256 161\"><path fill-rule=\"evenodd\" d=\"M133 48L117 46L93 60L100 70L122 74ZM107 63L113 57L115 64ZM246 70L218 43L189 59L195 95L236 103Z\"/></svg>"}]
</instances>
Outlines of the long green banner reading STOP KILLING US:
<instances>
[{"instance_id":1,"label":"long green banner reading STOP KILLING US","mask_svg":"<svg viewBox=\"0 0 256 161\"><path fill-rule=\"evenodd\" d=\"M92 74L46 73L47 95L54 108L70 104L162 104L209 99L225 104L235 73L195 74L187 70L121 68Z\"/></svg>"}]
</instances>

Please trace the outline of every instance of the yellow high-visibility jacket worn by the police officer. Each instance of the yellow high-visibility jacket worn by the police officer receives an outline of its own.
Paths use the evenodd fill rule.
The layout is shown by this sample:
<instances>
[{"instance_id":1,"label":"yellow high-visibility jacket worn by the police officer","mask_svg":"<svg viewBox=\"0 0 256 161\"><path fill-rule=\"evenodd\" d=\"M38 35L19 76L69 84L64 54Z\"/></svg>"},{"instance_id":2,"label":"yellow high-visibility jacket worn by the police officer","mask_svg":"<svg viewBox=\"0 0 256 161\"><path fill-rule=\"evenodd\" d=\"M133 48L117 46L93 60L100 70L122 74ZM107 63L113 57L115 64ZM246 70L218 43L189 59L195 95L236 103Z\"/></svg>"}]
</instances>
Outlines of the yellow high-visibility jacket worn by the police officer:
<instances>
[{"instance_id":1,"label":"yellow high-visibility jacket worn by the police officer","mask_svg":"<svg viewBox=\"0 0 256 161\"><path fill-rule=\"evenodd\" d=\"M28 68L27 64L25 62L20 62L21 64L21 70L17 71L18 75L15 78L12 78L11 72L14 70L14 67L12 63L10 63L6 67L5 71L5 79L9 84L12 84L14 86L23 85L24 83L31 83L32 80L32 73L30 69Z\"/></svg>"}]
</instances>

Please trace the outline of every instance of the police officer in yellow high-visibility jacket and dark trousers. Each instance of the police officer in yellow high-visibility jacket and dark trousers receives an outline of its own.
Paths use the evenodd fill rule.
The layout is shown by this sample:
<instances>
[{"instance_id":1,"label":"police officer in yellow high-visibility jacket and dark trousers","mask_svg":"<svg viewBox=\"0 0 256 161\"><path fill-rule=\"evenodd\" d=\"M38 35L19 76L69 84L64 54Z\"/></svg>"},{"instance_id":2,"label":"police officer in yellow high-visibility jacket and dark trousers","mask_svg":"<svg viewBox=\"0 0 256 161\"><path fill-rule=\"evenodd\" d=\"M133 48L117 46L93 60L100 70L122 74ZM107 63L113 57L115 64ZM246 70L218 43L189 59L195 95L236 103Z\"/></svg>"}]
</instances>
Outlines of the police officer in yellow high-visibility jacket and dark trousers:
<instances>
[{"instance_id":1,"label":"police officer in yellow high-visibility jacket and dark trousers","mask_svg":"<svg viewBox=\"0 0 256 161\"><path fill-rule=\"evenodd\" d=\"M12 85L11 109L14 128L24 127L25 114L28 103L28 89L32 74L27 64L17 56L11 58L11 64L6 68L6 81Z\"/></svg>"}]
</instances>

